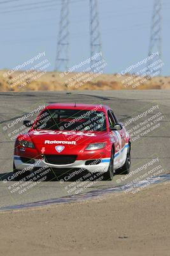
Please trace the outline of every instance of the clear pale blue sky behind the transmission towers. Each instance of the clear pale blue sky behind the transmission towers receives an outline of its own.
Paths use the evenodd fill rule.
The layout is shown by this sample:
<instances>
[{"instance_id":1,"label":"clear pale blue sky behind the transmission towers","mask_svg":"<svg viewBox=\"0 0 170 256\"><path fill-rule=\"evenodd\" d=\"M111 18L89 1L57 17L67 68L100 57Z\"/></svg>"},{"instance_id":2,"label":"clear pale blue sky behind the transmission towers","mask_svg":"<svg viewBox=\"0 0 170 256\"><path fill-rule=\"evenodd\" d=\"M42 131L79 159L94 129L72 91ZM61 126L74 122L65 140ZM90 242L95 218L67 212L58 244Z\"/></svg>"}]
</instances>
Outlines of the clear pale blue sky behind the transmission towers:
<instances>
[{"instance_id":1,"label":"clear pale blue sky behind the transmission towers","mask_svg":"<svg viewBox=\"0 0 170 256\"><path fill-rule=\"evenodd\" d=\"M72 67L90 56L89 0L70 1L69 67ZM103 54L108 63L106 72L120 72L143 60L148 54L153 0L97 1ZM0 0L0 69L11 69L45 51L51 63L48 70L53 70L60 3L60 0ZM164 76L170 75L169 11L170 1L162 0Z\"/></svg>"}]
</instances>

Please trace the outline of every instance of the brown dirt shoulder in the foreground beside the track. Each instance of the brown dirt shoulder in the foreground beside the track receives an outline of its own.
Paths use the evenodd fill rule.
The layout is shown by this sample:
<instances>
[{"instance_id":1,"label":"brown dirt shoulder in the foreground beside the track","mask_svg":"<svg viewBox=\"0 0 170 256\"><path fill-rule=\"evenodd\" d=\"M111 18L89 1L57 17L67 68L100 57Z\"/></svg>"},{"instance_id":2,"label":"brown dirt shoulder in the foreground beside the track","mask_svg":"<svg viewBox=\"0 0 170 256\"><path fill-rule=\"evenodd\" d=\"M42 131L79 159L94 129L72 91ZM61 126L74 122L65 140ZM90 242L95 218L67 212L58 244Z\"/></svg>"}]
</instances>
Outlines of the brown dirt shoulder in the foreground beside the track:
<instances>
[{"instance_id":1,"label":"brown dirt shoulder in the foreground beside the track","mask_svg":"<svg viewBox=\"0 0 170 256\"><path fill-rule=\"evenodd\" d=\"M0 213L1 255L170 255L170 183Z\"/></svg>"}]
</instances>

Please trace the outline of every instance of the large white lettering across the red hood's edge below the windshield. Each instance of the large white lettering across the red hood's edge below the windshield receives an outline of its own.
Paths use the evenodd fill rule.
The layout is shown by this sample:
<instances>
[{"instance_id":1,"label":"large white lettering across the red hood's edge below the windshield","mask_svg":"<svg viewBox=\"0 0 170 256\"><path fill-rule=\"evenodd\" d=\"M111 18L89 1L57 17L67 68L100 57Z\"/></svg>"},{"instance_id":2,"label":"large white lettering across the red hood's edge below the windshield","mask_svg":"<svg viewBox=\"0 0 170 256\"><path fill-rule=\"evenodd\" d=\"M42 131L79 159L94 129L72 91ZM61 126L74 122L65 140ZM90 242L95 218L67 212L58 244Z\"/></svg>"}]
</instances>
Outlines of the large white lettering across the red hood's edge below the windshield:
<instances>
[{"instance_id":1,"label":"large white lettering across the red hood's edge below the windshield","mask_svg":"<svg viewBox=\"0 0 170 256\"><path fill-rule=\"evenodd\" d=\"M49 131L49 130L44 130L44 131L34 131L34 135L44 135L44 134L53 134L53 135L58 135L58 134L63 134L63 135L73 135L76 134L78 136L89 136L89 137L94 137L96 134L94 133L86 133L86 132L74 132L74 131Z\"/></svg>"}]
</instances>

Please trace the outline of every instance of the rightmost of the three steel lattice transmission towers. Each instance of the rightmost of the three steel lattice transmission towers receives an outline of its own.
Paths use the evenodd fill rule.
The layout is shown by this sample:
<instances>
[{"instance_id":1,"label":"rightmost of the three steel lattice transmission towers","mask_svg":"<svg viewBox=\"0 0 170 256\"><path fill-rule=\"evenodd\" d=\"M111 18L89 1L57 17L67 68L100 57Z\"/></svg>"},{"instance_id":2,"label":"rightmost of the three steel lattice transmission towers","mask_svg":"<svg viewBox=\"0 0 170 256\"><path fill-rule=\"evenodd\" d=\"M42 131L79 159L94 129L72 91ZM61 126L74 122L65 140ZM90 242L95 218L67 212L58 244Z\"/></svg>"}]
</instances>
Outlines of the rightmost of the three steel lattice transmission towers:
<instances>
[{"instance_id":1,"label":"rightmost of the three steel lattice transmission towers","mask_svg":"<svg viewBox=\"0 0 170 256\"><path fill-rule=\"evenodd\" d=\"M161 39L161 31L162 31L162 0L154 0L153 5L153 15L152 15L152 26L151 26L151 35L150 35L150 45L148 56L151 56L153 52L159 52L158 56L154 57L153 60L148 61L148 65L152 64L157 60L162 60L162 39ZM159 73L161 72L161 67L158 68ZM148 67L148 71L152 73L152 67Z\"/></svg>"}]
</instances>

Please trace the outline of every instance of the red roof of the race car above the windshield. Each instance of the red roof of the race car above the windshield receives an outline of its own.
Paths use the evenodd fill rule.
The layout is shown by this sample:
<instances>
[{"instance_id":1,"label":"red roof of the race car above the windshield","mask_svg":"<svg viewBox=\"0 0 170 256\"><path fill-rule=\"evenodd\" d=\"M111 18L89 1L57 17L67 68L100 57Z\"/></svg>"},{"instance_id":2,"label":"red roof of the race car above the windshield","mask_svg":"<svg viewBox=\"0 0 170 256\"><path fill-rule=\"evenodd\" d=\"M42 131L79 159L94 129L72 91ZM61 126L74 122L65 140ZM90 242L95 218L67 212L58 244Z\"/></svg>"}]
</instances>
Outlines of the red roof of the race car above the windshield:
<instances>
[{"instance_id":1,"label":"red roof of the race car above the windshield","mask_svg":"<svg viewBox=\"0 0 170 256\"><path fill-rule=\"evenodd\" d=\"M92 110L97 108L97 111L106 111L110 109L108 106L104 106L102 104L77 104L75 103L54 103L46 106L45 109L86 109Z\"/></svg>"}]
</instances>

